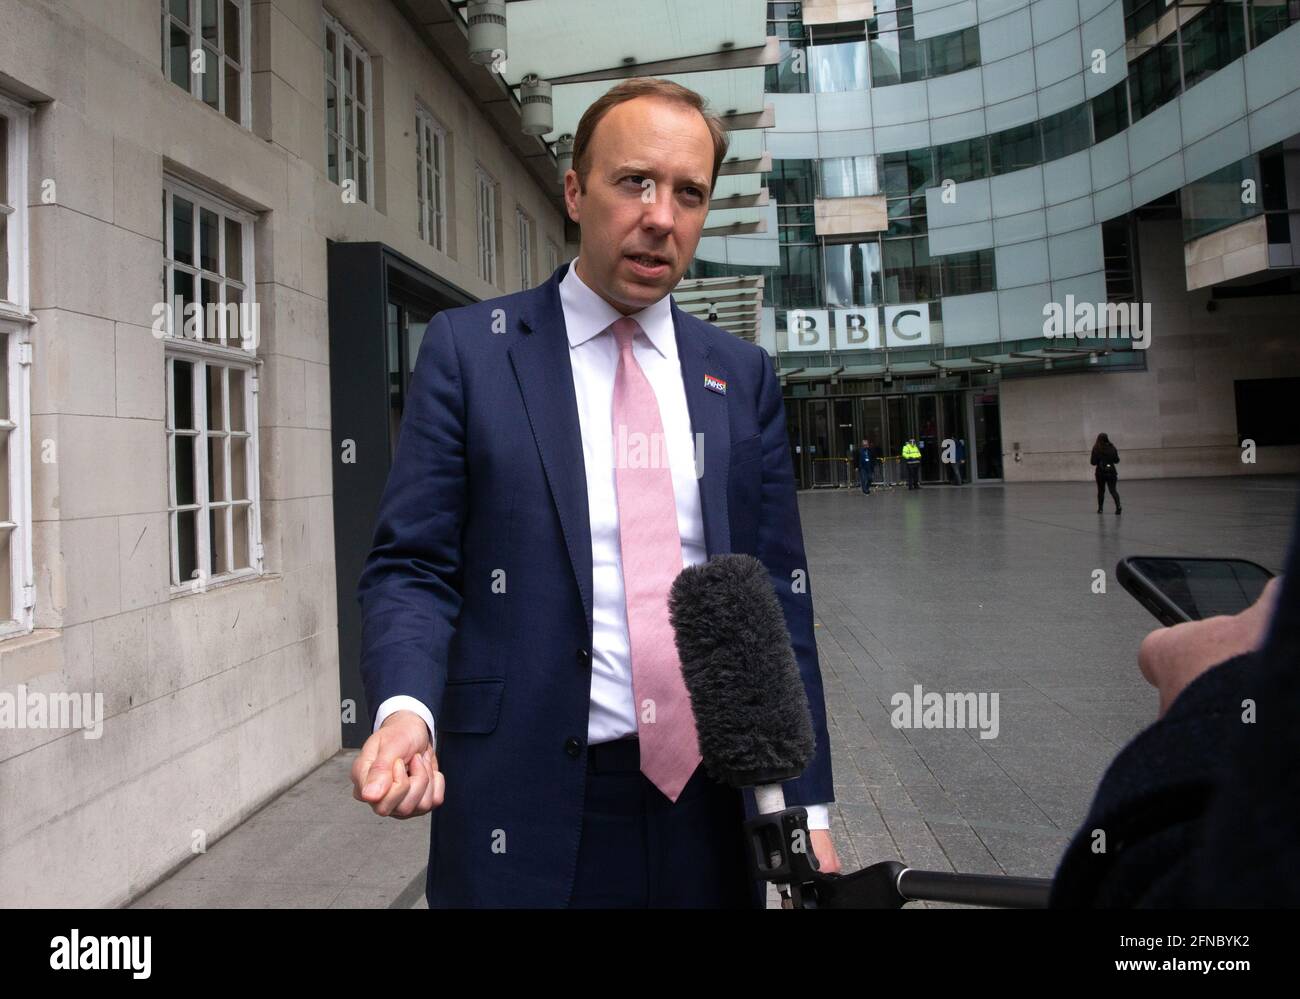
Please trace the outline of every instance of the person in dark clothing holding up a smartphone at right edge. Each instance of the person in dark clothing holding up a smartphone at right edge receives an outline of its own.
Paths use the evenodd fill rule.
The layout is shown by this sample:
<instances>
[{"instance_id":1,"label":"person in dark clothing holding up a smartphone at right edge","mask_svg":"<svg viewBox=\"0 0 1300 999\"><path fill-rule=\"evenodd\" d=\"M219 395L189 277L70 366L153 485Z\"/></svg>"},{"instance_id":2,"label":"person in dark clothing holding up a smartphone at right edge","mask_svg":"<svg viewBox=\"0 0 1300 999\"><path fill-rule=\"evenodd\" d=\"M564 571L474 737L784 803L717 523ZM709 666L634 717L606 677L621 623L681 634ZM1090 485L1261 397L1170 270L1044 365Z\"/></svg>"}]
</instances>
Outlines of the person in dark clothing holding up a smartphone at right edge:
<instances>
[{"instance_id":1,"label":"person in dark clothing holding up a smartphone at right edge","mask_svg":"<svg viewBox=\"0 0 1300 999\"><path fill-rule=\"evenodd\" d=\"M1161 717L1106 770L1050 905L1300 905L1300 515L1256 604L1158 628L1139 665Z\"/></svg>"}]
</instances>

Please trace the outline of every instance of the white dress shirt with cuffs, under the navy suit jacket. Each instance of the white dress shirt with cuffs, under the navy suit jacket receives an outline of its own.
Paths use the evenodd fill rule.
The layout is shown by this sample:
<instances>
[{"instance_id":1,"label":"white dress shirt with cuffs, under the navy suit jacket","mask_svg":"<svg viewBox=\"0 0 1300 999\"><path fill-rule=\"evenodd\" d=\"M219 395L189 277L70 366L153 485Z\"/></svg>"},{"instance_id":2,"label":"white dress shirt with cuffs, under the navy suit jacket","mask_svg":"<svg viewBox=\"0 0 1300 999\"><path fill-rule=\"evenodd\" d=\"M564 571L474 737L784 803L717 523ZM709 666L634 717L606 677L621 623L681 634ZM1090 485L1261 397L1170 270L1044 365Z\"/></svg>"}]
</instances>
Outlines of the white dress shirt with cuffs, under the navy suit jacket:
<instances>
[{"instance_id":1,"label":"white dress shirt with cuffs, under the navy suit jacket","mask_svg":"<svg viewBox=\"0 0 1300 999\"><path fill-rule=\"evenodd\" d=\"M588 287L577 276L577 261L560 281L560 306L568 330L573 392L582 432L582 462L586 468L586 506L592 520L592 710L588 715L589 744L606 743L637 732L636 700L632 693L632 659L628 639L628 609L623 591L623 558L619 545L619 503L614 466L614 379L619 371L619 346L610 325L623 313ZM677 501L677 532L681 565L699 565L705 549L705 518L696 477L696 447L686 408L686 389L677 359L677 334L668 295L630 319L641 326L632 341L632 354L645 372L659 403L672 492ZM374 718L378 728L393 712L407 709L424 718L433 736L433 715L415 697L389 697ZM809 829L829 827L829 808L809 805Z\"/></svg>"}]
</instances>

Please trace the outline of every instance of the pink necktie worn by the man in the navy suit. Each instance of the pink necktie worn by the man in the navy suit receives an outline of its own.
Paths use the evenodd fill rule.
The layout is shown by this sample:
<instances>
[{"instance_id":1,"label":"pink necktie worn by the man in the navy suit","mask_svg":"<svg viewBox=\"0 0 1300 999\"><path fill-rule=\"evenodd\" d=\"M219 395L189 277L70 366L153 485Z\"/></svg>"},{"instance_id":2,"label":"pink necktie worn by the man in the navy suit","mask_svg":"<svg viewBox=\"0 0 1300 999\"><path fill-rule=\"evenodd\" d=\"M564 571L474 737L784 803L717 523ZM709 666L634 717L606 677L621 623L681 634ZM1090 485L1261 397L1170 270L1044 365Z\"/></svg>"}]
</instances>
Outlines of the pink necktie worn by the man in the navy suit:
<instances>
[{"instance_id":1,"label":"pink necktie worn by the man in the navy suit","mask_svg":"<svg viewBox=\"0 0 1300 999\"><path fill-rule=\"evenodd\" d=\"M641 773L676 801L699 765L696 715L668 622L668 588L682 568L677 500L659 405L632 354L641 326L624 316L610 329L619 343L614 468Z\"/></svg>"}]
</instances>

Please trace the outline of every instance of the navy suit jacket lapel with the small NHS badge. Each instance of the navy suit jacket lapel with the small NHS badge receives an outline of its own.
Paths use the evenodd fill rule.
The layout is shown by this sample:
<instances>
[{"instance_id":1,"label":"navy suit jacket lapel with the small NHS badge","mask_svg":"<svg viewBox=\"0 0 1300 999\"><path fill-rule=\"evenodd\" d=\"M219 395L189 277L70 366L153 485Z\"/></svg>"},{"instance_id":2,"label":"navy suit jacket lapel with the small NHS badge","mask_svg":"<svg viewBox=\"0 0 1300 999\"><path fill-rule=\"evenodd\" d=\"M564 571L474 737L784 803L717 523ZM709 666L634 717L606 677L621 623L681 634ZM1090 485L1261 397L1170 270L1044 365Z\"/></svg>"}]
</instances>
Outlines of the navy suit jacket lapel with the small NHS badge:
<instances>
[{"instance_id":1,"label":"navy suit jacket lapel with the small NHS badge","mask_svg":"<svg viewBox=\"0 0 1300 999\"><path fill-rule=\"evenodd\" d=\"M731 463L731 421L727 395L705 388L705 376L727 381L727 368L712 356L707 328L672 303L672 325L677 333L677 358L686 390L690 428L696 434L696 471L699 477L699 505L705 518L705 549L708 555L731 552L731 516L727 511L727 472ZM701 460L701 449L703 459Z\"/></svg>"}]
</instances>

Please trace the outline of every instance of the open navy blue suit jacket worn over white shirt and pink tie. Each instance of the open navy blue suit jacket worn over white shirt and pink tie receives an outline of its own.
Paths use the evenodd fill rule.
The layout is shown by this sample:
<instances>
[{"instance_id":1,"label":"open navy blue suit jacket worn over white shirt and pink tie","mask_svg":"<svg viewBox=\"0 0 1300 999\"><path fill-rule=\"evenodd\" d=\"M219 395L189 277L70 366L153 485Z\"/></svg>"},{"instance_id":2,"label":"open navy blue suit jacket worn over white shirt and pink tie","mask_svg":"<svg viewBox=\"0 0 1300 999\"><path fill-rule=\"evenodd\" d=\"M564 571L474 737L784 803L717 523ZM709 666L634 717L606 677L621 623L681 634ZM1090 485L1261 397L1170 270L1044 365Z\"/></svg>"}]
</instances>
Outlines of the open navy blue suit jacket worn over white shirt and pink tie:
<instances>
[{"instance_id":1,"label":"open navy blue suit jacket worn over white shirt and pink tie","mask_svg":"<svg viewBox=\"0 0 1300 999\"><path fill-rule=\"evenodd\" d=\"M566 905L590 706L592 539L559 281L439 312L420 347L358 598L378 705L437 719L430 907ZM780 385L768 355L672 306L710 555L770 570L816 731L789 804L832 801L831 753ZM727 382L725 394L705 376ZM803 574L802 587L792 585ZM746 792L753 813L753 795ZM737 832L738 835L738 832Z\"/></svg>"}]
</instances>

